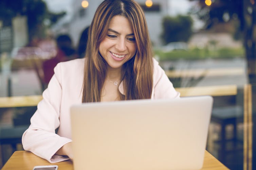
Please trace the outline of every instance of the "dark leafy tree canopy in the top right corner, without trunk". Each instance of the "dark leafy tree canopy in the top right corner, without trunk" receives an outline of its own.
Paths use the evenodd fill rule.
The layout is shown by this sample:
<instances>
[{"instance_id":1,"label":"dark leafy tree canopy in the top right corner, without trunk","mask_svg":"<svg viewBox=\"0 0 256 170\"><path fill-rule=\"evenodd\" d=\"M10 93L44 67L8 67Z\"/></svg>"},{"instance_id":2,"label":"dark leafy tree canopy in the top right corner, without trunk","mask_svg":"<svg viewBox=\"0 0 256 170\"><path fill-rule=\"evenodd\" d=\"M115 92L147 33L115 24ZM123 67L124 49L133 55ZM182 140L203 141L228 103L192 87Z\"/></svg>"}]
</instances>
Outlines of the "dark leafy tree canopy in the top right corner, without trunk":
<instances>
[{"instance_id":1,"label":"dark leafy tree canopy in the top right corner, without trunk","mask_svg":"<svg viewBox=\"0 0 256 170\"><path fill-rule=\"evenodd\" d=\"M244 9L247 8L245 6L251 5L250 0L215 0L210 6L205 4L205 0L189 1L198 2L199 6L191 8L189 14L195 14L200 20L203 20L206 29L211 29L220 23L230 23L234 30L228 30L228 32L233 34L235 40L242 39L245 24L244 13L247 13L247 10ZM224 16L228 16L228 18Z\"/></svg>"}]
</instances>

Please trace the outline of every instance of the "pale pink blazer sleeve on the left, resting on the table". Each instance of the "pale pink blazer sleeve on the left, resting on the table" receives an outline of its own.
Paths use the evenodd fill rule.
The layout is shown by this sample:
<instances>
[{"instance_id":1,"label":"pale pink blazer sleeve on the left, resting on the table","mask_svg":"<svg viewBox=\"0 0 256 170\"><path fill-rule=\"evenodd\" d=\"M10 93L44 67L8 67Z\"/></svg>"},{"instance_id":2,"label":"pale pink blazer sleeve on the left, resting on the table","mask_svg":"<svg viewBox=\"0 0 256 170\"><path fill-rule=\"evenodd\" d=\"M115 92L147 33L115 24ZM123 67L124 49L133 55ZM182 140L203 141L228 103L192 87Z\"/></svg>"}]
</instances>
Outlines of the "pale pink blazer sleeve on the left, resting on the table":
<instances>
[{"instance_id":1,"label":"pale pink blazer sleeve on the left, resting on the table","mask_svg":"<svg viewBox=\"0 0 256 170\"><path fill-rule=\"evenodd\" d=\"M68 160L69 157L54 155L71 139L60 137L55 133L59 127L61 104L61 66L54 68L55 74L43 92L43 99L37 105L37 111L31 118L31 125L23 133L22 145L25 150L46 159L50 163Z\"/></svg>"}]
</instances>

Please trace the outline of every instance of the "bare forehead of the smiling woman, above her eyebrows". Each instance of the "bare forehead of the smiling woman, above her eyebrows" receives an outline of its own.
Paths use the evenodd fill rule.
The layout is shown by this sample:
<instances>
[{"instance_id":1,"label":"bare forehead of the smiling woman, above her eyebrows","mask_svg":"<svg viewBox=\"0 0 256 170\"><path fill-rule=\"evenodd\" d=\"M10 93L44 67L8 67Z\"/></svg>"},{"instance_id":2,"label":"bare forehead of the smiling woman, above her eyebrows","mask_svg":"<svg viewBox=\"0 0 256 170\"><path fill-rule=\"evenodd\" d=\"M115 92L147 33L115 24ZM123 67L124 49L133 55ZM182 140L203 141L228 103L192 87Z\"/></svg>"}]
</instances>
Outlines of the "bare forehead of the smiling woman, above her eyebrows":
<instances>
[{"instance_id":1,"label":"bare forehead of the smiling woman, above her eyebrows","mask_svg":"<svg viewBox=\"0 0 256 170\"><path fill-rule=\"evenodd\" d=\"M130 21L126 17L121 15L116 15L110 20L109 28L119 33L133 33Z\"/></svg>"}]
</instances>

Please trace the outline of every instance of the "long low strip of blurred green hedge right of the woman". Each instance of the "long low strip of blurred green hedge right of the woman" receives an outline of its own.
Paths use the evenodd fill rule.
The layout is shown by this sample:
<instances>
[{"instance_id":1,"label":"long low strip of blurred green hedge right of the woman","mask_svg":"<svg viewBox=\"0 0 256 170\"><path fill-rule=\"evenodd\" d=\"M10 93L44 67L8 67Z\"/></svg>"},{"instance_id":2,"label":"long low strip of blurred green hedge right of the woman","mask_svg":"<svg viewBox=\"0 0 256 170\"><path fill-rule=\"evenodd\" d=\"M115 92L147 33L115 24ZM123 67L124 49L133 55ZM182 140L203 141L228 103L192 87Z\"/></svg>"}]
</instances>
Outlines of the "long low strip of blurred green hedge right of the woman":
<instances>
[{"instance_id":1,"label":"long low strip of blurred green hedge right of the woman","mask_svg":"<svg viewBox=\"0 0 256 170\"><path fill-rule=\"evenodd\" d=\"M162 52L155 50L155 54L161 61L178 60L178 59L206 59L206 58L232 58L244 57L244 49L242 48L221 48L218 50L209 50L208 48L189 49L189 50L173 50L170 52Z\"/></svg>"}]
</instances>

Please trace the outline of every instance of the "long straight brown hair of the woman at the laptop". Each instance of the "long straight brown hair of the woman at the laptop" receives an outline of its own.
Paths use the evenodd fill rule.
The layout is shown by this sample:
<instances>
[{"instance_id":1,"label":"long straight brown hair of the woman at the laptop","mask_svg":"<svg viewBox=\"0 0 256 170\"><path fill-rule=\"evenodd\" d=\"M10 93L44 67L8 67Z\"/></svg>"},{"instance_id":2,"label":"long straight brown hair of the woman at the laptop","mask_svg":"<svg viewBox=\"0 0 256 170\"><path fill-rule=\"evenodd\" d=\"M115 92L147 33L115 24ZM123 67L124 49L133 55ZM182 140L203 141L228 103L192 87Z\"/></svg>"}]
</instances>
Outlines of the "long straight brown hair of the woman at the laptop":
<instances>
[{"instance_id":1,"label":"long straight brown hair of the woman at the laptop","mask_svg":"<svg viewBox=\"0 0 256 170\"><path fill-rule=\"evenodd\" d=\"M124 94L121 100L149 99L153 87L152 48L146 19L134 0L105 0L97 8L88 32L82 102L97 102L106 78L107 63L99 54L99 44L107 35L110 20L121 15L132 26L137 51L122 66Z\"/></svg>"}]
</instances>

